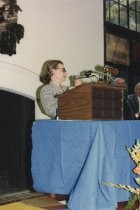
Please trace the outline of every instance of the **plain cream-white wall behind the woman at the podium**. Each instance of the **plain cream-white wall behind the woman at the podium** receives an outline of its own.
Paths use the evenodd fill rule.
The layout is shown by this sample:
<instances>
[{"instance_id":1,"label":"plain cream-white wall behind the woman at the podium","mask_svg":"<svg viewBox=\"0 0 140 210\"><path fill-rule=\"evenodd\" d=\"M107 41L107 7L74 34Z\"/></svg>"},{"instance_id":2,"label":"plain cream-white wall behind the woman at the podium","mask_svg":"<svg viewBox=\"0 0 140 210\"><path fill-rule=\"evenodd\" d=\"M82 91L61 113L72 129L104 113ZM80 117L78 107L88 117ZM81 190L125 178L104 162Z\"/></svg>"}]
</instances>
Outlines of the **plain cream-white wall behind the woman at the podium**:
<instances>
[{"instance_id":1,"label":"plain cream-white wall behind the woman at the podium","mask_svg":"<svg viewBox=\"0 0 140 210\"><path fill-rule=\"evenodd\" d=\"M13 56L0 54L0 86L35 98L47 59L60 59L69 74L104 63L102 0L18 0L24 38ZM69 83L69 81L67 81ZM36 118L42 118L36 110Z\"/></svg>"}]
</instances>

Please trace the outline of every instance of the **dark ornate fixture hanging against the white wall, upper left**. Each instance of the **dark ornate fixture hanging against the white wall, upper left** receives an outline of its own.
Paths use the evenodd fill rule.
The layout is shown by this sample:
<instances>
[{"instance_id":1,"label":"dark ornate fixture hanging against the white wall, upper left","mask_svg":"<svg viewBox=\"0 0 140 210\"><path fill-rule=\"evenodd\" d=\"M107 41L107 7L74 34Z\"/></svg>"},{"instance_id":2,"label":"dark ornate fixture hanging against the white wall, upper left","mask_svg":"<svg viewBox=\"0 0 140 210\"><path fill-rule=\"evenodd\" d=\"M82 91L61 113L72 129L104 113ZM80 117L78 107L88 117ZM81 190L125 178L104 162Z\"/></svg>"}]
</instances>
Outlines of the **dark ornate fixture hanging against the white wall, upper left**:
<instances>
[{"instance_id":1,"label":"dark ornate fixture hanging against the white wall, upper left","mask_svg":"<svg viewBox=\"0 0 140 210\"><path fill-rule=\"evenodd\" d=\"M1 54L16 54L16 44L24 37L24 27L17 23L19 11L17 0L0 0Z\"/></svg>"}]
</instances>

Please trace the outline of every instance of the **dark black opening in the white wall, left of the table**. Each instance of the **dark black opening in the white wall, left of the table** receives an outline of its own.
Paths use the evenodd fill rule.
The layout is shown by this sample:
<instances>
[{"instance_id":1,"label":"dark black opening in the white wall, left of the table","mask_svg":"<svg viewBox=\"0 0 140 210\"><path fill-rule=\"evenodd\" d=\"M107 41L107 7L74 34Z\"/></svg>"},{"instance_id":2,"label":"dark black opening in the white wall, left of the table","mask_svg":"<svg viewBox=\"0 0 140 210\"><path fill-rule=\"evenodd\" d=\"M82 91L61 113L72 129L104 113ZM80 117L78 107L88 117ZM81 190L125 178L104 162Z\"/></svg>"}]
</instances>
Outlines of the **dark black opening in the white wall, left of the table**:
<instances>
[{"instance_id":1,"label":"dark black opening in the white wall, left of the table","mask_svg":"<svg viewBox=\"0 0 140 210\"><path fill-rule=\"evenodd\" d=\"M34 100L0 90L0 196L32 189Z\"/></svg>"}]
</instances>

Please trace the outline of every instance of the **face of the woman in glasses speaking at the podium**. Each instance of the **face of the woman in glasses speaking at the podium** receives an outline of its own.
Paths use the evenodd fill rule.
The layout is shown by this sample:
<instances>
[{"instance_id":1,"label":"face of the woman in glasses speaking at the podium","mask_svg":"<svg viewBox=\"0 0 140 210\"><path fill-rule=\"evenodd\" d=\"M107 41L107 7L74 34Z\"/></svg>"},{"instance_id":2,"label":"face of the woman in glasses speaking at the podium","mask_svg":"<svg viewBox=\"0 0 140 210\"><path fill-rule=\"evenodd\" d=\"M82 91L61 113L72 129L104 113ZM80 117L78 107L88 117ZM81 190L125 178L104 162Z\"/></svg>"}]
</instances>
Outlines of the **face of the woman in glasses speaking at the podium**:
<instances>
[{"instance_id":1,"label":"face of the woman in glasses speaking at the podium","mask_svg":"<svg viewBox=\"0 0 140 210\"><path fill-rule=\"evenodd\" d=\"M57 81L64 82L67 77L67 72L65 70L64 64L58 64L58 66L55 69L52 69L52 77L57 79Z\"/></svg>"}]
</instances>

